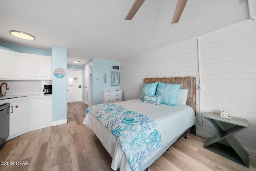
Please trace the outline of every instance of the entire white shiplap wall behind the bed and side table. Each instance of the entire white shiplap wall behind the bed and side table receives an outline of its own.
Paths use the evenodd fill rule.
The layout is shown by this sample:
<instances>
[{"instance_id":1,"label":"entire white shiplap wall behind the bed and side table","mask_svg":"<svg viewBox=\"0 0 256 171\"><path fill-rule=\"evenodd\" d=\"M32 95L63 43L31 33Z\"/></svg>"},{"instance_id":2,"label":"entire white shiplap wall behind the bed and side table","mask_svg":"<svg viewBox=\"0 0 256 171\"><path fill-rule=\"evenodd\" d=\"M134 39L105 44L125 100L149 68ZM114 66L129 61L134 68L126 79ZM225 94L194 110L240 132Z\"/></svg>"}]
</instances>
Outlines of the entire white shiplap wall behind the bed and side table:
<instances>
[{"instance_id":1,"label":"entire white shiplap wall behind the bed and side table","mask_svg":"<svg viewBox=\"0 0 256 171\"><path fill-rule=\"evenodd\" d=\"M225 109L231 116L248 119L248 129L235 138L249 155L256 157L256 21L246 20L214 32L182 41L141 56L120 62L123 100L139 98L143 79L154 77L196 77L200 73L203 90L196 93L196 117L201 112L220 113ZM196 125L202 137L214 131L203 119Z\"/></svg>"}]
</instances>

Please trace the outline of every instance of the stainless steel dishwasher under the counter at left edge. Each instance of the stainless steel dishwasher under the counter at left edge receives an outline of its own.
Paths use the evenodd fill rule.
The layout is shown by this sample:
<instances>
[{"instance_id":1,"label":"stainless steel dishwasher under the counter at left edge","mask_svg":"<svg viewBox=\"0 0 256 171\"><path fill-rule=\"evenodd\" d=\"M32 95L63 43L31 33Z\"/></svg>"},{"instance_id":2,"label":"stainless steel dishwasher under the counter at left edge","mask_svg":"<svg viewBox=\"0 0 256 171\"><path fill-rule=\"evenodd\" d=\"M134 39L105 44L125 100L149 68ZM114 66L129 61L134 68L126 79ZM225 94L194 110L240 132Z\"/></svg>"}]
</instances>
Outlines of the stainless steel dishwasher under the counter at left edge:
<instances>
[{"instance_id":1,"label":"stainless steel dishwasher under the counter at left edge","mask_svg":"<svg viewBox=\"0 0 256 171\"><path fill-rule=\"evenodd\" d=\"M9 136L10 103L0 105L0 146Z\"/></svg>"}]
</instances>

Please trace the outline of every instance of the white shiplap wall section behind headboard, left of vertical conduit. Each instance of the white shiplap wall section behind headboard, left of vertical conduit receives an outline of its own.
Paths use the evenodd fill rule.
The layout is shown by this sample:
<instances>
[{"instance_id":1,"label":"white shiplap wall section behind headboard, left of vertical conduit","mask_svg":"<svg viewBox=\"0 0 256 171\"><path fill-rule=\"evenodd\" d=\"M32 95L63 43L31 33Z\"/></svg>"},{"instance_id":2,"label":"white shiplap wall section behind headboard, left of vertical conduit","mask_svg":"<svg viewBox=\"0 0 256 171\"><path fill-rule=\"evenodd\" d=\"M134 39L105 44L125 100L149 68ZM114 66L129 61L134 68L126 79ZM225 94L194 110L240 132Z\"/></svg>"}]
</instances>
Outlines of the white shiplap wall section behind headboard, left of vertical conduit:
<instances>
[{"instance_id":1,"label":"white shiplap wall section behind headboard, left of vertical conduit","mask_svg":"<svg viewBox=\"0 0 256 171\"><path fill-rule=\"evenodd\" d=\"M192 38L120 62L123 100L140 98L144 78L193 76L199 84L197 54Z\"/></svg>"}]
</instances>

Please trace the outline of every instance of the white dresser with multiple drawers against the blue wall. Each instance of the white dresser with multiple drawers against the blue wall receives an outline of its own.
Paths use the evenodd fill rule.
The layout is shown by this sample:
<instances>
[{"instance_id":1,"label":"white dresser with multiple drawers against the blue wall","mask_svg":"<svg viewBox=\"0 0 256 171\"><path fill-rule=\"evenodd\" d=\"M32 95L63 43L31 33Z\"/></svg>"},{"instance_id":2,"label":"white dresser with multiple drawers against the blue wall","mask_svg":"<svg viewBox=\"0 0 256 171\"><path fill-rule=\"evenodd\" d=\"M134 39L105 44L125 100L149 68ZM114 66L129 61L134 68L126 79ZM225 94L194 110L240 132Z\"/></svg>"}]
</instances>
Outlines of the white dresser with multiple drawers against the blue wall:
<instances>
[{"instance_id":1,"label":"white dresser with multiple drawers against the blue wall","mask_svg":"<svg viewBox=\"0 0 256 171\"><path fill-rule=\"evenodd\" d=\"M117 101L122 101L121 89L100 90L100 104L113 103Z\"/></svg>"}]
</instances>

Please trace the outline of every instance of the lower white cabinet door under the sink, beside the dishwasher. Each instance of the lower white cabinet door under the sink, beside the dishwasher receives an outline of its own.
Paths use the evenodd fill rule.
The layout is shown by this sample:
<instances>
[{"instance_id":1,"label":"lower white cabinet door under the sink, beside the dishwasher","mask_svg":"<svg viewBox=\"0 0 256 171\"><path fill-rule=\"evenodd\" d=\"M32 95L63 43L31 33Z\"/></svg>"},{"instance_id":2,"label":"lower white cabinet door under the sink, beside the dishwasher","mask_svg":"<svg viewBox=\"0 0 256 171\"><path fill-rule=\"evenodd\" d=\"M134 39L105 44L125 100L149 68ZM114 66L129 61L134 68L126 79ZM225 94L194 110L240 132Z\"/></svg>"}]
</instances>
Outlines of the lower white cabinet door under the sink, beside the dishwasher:
<instances>
[{"instance_id":1,"label":"lower white cabinet door under the sink, beside the dishwasher","mask_svg":"<svg viewBox=\"0 0 256 171\"><path fill-rule=\"evenodd\" d=\"M10 103L10 130L9 136L19 136L30 131L29 128L29 100L20 100Z\"/></svg>"}]
</instances>

